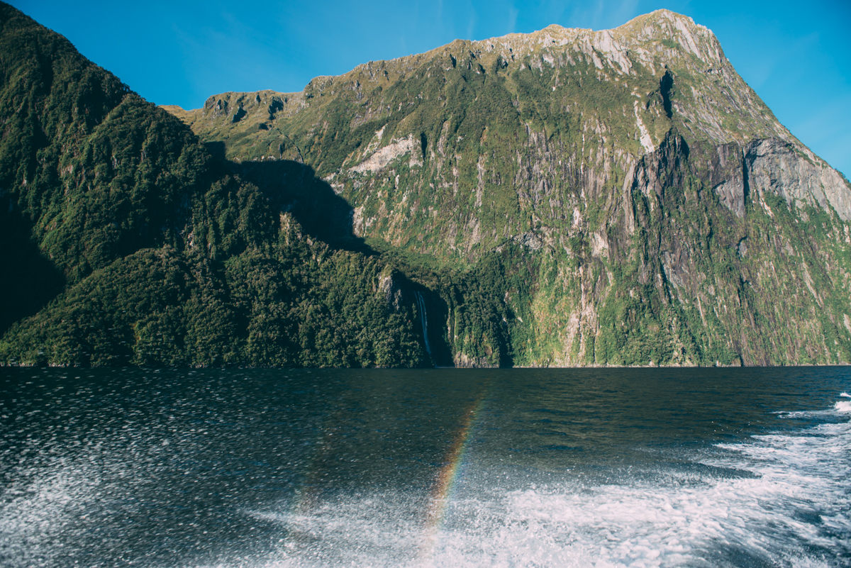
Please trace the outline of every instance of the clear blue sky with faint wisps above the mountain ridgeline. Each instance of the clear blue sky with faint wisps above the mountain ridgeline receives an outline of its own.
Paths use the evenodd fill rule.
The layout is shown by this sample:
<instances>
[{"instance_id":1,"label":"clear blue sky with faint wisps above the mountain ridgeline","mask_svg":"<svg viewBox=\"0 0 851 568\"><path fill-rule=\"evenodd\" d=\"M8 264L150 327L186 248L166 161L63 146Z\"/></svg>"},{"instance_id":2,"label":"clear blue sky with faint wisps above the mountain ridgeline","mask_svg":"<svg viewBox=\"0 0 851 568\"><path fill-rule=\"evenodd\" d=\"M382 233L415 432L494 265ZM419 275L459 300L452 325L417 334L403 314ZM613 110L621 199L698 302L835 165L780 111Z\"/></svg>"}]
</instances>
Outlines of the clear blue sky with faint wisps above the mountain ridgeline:
<instances>
[{"instance_id":1,"label":"clear blue sky with faint wisps above the mountain ridgeline","mask_svg":"<svg viewBox=\"0 0 851 568\"><path fill-rule=\"evenodd\" d=\"M300 91L312 77L550 24L595 30L654 9L691 16L802 142L851 177L851 1L13 0L158 105Z\"/></svg>"}]
</instances>

